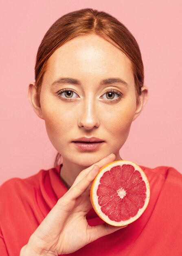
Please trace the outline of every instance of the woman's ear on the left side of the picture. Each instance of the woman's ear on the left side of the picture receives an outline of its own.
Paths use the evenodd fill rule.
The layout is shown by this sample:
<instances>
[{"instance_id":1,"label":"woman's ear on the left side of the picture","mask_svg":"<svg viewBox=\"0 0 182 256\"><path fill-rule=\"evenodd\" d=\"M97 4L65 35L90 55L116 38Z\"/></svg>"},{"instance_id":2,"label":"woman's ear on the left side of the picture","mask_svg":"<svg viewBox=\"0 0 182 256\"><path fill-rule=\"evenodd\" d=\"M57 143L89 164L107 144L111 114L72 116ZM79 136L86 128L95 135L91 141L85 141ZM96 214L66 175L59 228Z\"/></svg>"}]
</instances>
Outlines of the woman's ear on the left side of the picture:
<instances>
[{"instance_id":1,"label":"woman's ear on the left side of the picture","mask_svg":"<svg viewBox=\"0 0 182 256\"><path fill-rule=\"evenodd\" d=\"M27 90L27 95L29 97L29 101L31 103L31 106L34 110L34 112L37 114L38 117L40 117L41 119L44 119L43 115L42 115L42 110L41 110L41 106L37 97L37 90L35 88L35 83L30 83L28 90Z\"/></svg>"}]
</instances>

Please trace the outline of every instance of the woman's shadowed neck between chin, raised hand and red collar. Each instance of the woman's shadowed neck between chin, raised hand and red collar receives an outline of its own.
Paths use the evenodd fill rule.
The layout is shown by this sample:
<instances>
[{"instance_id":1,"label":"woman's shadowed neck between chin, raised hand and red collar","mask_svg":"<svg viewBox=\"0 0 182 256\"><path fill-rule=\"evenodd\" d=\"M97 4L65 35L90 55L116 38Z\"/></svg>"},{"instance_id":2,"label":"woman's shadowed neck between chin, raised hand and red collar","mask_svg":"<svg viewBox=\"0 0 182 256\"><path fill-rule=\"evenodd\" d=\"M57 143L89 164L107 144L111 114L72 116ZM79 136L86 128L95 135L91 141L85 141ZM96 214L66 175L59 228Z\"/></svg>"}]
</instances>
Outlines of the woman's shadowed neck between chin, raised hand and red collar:
<instances>
[{"instance_id":1,"label":"woman's shadowed neck between chin, raised hand and red collar","mask_svg":"<svg viewBox=\"0 0 182 256\"><path fill-rule=\"evenodd\" d=\"M122 160L119 155L119 152L115 155L116 155L115 161ZM72 186L73 182L75 181L79 173L88 167L89 166L81 166L79 164L75 164L73 162L63 159L60 178L66 185L67 189L70 189L70 187Z\"/></svg>"}]
</instances>

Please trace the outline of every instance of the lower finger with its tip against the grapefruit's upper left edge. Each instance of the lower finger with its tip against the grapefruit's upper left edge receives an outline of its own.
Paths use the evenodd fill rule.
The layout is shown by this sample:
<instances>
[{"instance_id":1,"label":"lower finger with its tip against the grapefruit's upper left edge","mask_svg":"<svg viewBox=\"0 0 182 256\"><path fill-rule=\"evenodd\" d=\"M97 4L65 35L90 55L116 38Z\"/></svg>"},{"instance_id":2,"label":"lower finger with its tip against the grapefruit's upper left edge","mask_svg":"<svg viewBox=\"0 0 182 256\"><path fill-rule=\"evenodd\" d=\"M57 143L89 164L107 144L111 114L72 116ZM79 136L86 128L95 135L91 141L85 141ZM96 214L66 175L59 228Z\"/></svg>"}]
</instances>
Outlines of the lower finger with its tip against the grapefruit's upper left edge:
<instances>
[{"instance_id":1,"label":"lower finger with its tip against the grapefruit's upper left edge","mask_svg":"<svg viewBox=\"0 0 182 256\"><path fill-rule=\"evenodd\" d=\"M66 200L75 200L78 198L90 185L90 183L94 180L95 176L99 172L99 166L94 164L91 171L87 173L82 180L80 180L75 186L72 186L66 194L62 197Z\"/></svg>"}]
</instances>

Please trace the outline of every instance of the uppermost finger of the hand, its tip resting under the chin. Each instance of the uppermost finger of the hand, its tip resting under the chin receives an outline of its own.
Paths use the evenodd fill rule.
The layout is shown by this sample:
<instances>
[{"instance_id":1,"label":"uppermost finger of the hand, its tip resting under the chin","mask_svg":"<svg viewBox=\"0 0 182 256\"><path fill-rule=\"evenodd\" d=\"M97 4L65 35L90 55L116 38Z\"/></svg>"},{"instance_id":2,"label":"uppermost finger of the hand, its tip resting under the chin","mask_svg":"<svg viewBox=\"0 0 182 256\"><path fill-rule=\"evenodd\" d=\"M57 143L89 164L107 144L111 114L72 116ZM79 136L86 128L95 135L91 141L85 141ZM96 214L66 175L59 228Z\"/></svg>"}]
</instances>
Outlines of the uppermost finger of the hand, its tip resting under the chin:
<instances>
[{"instance_id":1,"label":"uppermost finger of the hand, its tip resting under the chin","mask_svg":"<svg viewBox=\"0 0 182 256\"><path fill-rule=\"evenodd\" d=\"M107 157L104 157L103 159L101 159L100 161L96 162L95 164L99 166L99 169L102 168L103 166L105 166L106 164L113 162L116 158L116 155L114 155L113 153L111 155L108 155ZM89 166L88 168L84 169L83 171L81 171L81 173L79 173L79 175L77 176L77 178L75 179L75 182L72 184L72 186L75 186L75 184L77 184L78 182L80 182L84 177L86 177L86 175L92 170L94 164L92 164L91 166Z\"/></svg>"}]
</instances>

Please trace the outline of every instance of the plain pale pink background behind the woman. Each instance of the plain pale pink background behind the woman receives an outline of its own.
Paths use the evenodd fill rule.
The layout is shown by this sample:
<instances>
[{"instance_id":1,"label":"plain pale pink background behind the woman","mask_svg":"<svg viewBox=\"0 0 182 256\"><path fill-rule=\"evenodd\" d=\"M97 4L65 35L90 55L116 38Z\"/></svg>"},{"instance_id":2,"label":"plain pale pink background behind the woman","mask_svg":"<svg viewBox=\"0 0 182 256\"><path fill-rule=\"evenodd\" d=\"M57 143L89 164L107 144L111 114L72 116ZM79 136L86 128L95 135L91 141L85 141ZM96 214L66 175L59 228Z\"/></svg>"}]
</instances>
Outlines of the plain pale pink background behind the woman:
<instances>
[{"instance_id":1,"label":"plain pale pink background behind the woman","mask_svg":"<svg viewBox=\"0 0 182 256\"><path fill-rule=\"evenodd\" d=\"M1 0L0 183L53 166L56 151L44 120L30 106L27 87L34 81L37 49L48 28L62 15L88 7L123 22L143 57L149 100L132 124L121 157L182 172L180 0Z\"/></svg>"}]
</instances>

